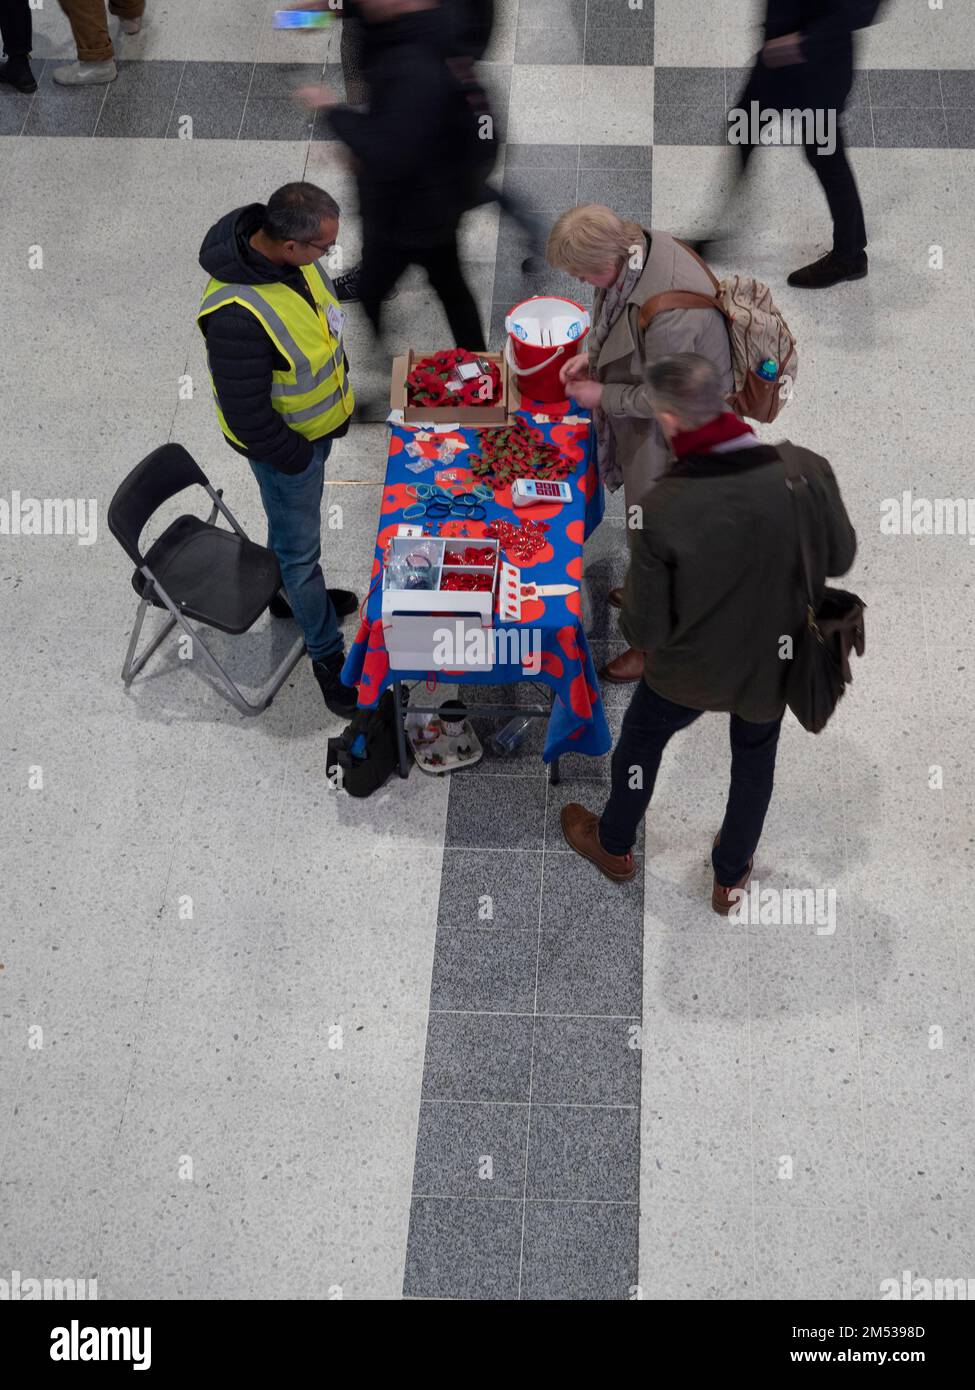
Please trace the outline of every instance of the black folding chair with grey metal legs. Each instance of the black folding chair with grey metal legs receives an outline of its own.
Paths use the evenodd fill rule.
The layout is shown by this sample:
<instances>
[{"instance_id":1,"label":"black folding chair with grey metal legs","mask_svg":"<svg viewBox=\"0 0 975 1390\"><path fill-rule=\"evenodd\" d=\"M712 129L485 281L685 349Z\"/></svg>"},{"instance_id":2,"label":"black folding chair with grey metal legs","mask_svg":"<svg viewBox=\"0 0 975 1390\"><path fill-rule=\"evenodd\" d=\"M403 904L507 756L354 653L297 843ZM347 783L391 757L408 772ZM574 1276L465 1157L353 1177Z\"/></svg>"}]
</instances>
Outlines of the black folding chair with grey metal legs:
<instances>
[{"instance_id":1,"label":"black folding chair with grey metal legs","mask_svg":"<svg viewBox=\"0 0 975 1390\"><path fill-rule=\"evenodd\" d=\"M164 502L189 486L203 488L213 499L207 520L177 517L143 555L139 538L149 518ZM217 513L227 517L232 531L214 525ZM257 703L252 705L206 645L199 630L192 627L191 619L221 632L246 632L281 589L281 570L271 550L248 539L225 506L223 491L210 486L206 474L182 445L164 443L132 468L111 499L108 530L136 566L132 587L139 595L139 612L122 666L125 685L132 684L160 642L179 624L193 644L199 642L203 660L221 687L221 694L242 714L260 714L267 709L298 664L305 641L299 638L295 642L270 681L259 691ZM167 609L170 617L136 659L135 649L150 605Z\"/></svg>"}]
</instances>

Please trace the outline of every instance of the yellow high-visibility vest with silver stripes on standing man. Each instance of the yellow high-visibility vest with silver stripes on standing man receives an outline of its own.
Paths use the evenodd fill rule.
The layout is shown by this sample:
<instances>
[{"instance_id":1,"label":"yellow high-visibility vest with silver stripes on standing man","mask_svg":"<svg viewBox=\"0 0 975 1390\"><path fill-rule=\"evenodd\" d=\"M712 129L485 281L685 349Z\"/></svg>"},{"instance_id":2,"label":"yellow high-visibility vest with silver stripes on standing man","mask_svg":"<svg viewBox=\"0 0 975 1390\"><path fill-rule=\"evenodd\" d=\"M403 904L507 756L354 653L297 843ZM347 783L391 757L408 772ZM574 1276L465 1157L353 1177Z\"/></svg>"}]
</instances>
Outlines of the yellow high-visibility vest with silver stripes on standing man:
<instances>
[{"instance_id":1,"label":"yellow high-visibility vest with silver stripes on standing man","mask_svg":"<svg viewBox=\"0 0 975 1390\"><path fill-rule=\"evenodd\" d=\"M320 439L348 420L356 399L346 379L342 339L328 327L330 306L339 307L331 281L317 263L300 270L312 291L314 309L287 285L231 285L210 279L196 322L202 331L203 318L224 304L242 304L250 310L288 361L287 371L275 367L271 373L271 407L291 430L306 439ZM220 428L231 443L246 450L248 445L236 438L224 418L213 375L210 385Z\"/></svg>"}]
</instances>

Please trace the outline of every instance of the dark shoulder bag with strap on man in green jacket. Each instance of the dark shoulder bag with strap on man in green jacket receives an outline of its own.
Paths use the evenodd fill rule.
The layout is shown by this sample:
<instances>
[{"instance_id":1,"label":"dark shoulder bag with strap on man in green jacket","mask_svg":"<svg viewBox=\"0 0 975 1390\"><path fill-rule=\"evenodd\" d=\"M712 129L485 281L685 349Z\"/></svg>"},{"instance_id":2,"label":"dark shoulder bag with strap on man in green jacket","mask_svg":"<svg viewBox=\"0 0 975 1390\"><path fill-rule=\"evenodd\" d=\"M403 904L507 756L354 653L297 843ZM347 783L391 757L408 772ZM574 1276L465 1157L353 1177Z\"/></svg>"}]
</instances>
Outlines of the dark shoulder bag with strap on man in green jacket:
<instances>
[{"instance_id":1,"label":"dark shoulder bag with strap on man in green jacket","mask_svg":"<svg viewBox=\"0 0 975 1390\"><path fill-rule=\"evenodd\" d=\"M857 594L829 587L823 588L822 598L816 603L809 542L798 495L800 489L808 493L809 485L794 455L791 455L790 446L779 445L777 449L786 464L786 486L791 492L796 506L800 570L805 596L805 619L793 648L793 664L786 682L786 703L803 728L808 728L811 734L821 734L846 694L847 685L853 681L850 653L864 655L864 612L867 605Z\"/></svg>"}]
</instances>

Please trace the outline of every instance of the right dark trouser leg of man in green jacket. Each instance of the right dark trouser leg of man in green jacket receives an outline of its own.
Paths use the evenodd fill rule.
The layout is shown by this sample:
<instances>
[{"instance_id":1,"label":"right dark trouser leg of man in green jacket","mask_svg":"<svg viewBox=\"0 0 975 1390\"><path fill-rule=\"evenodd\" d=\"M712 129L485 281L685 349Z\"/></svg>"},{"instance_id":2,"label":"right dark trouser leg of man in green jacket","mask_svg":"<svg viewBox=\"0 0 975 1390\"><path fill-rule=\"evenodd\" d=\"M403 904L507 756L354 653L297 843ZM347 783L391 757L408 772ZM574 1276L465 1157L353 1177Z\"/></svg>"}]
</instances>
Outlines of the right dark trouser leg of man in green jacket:
<instances>
[{"instance_id":1,"label":"right dark trouser leg of man in green jacket","mask_svg":"<svg viewBox=\"0 0 975 1390\"><path fill-rule=\"evenodd\" d=\"M725 888L739 883L758 848L772 799L775 755L782 719L751 724L732 714L732 787L720 842L711 852L715 877Z\"/></svg>"}]
</instances>

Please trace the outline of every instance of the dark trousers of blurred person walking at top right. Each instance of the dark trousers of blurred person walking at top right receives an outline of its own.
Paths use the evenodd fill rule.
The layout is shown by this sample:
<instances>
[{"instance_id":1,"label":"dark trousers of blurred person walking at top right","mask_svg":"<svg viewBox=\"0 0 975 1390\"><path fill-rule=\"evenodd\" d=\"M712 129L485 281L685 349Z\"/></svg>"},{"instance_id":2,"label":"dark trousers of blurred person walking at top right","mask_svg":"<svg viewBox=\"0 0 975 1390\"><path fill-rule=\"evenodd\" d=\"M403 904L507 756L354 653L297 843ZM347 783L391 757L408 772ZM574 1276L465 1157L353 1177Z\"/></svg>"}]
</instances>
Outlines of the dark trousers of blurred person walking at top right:
<instances>
[{"instance_id":1,"label":"dark trousers of blurred person walking at top right","mask_svg":"<svg viewBox=\"0 0 975 1390\"><path fill-rule=\"evenodd\" d=\"M807 68L800 72L800 68ZM853 81L853 70L850 71ZM836 111L836 149L832 154L821 154L816 145L804 145L807 164L819 179L819 185L826 195L829 213L833 218L833 252L841 260L857 260L867 250L867 227L864 224L864 207L860 202L857 181L853 177L850 161L843 142L840 117L848 96L848 83L840 82L835 89L825 86L818 90L815 71L808 71L808 64L797 64L786 68L766 68L757 63L744 92L739 97L739 106L750 110L751 101L758 101L766 110L789 110L803 107L823 107ZM754 145L740 145L741 172L748 167L748 160L755 152Z\"/></svg>"}]
</instances>

